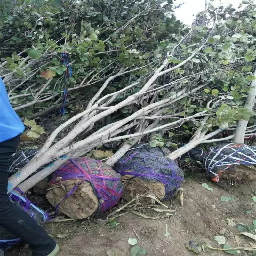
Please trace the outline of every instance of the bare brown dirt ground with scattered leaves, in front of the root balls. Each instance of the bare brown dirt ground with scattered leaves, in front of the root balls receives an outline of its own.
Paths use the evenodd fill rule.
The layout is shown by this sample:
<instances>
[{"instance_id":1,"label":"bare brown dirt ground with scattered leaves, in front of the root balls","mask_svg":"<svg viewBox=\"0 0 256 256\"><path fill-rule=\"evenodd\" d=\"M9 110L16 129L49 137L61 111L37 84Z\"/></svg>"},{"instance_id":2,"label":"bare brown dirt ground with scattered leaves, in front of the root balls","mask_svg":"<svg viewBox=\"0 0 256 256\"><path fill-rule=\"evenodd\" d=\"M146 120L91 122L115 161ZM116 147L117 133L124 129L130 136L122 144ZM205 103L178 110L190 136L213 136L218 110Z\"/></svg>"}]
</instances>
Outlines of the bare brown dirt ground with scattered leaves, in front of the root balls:
<instances>
[{"instance_id":1,"label":"bare brown dirt ground with scattered leaves, in front of the root balls","mask_svg":"<svg viewBox=\"0 0 256 256\"><path fill-rule=\"evenodd\" d=\"M205 189L202 183L207 183L213 191ZM253 242L250 238L236 235L238 233L236 226L228 226L226 220L230 218L234 219L236 224L252 225L255 219L255 203L252 201L252 197L255 196L254 182L240 186L230 185L224 190L213 184L204 174L197 174L197 177L186 178L182 188L184 189L184 206L180 207L179 200L174 200L171 209L176 209L176 212L171 216L161 213L164 217L162 219L144 219L129 212L129 208L125 208L124 211L119 212L124 215L115 219L119 223L115 228L109 229L106 224L100 224L100 220L90 222L86 220L48 223L46 229L60 245L58 256L129 256L132 247L128 244L129 238L137 238L138 245L146 250L147 256L196 255L185 247L185 243L190 240L202 244L207 242L212 247L221 248L221 245L214 241L216 235L225 236L226 244L231 247L244 246ZM221 196L232 197L233 201L222 202ZM171 202L165 202L165 204L171 206ZM158 206L158 208L163 207ZM136 211L150 215L148 208L144 208L144 212L141 209ZM251 209L253 209L252 213L243 212ZM151 212L154 211L151 210ZM156 215L155 212L150 216L160 215ZM164 236L166 227L170 233L169 237ZM253 253L241 250L238 255L255 255ZM28 254L26 249L15 248L6 255ZM200 255L228 254L219 250L206 250Z\"/></svg>"}]
</instances>

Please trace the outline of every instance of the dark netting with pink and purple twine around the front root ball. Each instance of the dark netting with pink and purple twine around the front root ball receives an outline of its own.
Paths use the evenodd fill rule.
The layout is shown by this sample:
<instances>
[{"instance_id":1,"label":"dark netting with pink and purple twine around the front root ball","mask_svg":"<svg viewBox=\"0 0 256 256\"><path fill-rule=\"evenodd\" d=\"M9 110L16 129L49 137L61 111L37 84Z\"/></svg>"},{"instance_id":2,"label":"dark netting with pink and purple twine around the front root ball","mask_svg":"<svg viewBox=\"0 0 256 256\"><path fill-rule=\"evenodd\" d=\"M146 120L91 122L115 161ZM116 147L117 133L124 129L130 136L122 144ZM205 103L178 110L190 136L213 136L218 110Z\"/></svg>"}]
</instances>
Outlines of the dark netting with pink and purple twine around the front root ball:
<instances>
[{"instance_id":1,"label":"dark netting with pink and purple twine around the front root ball","mask_svg":"<svg viewBox=\"0 0 256 256\"><path fill-rule=\"evenodd\" d=\"M123 191L119 174L100 160L86 157L69 159L65 165L54 173L50 182L51 185L60 182L60 180L56 180L57 177L61 177L62 181L74 179L81 181L68 191L61 202L56 205L56 210L58 210L62 201L71 196L84 181L90 182L99 200L98 213L103 213L112 208L120 199Z\"/></svg>"}]
</instances>

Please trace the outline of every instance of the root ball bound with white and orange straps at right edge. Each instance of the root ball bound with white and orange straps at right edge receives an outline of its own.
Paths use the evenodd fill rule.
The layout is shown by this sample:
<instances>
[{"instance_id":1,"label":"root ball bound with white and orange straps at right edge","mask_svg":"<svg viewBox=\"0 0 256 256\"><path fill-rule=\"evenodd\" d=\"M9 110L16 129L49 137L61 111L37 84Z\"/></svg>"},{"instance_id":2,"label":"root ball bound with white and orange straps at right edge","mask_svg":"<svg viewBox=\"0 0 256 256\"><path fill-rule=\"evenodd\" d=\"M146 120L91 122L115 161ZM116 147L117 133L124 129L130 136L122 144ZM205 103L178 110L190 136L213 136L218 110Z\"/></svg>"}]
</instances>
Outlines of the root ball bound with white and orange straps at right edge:
<instances>
[{"instance_id":1,"label":"root ball bound with white and orange straps at right edge","mask_svg":"<svg viewBox=\"0 0 256 256\"><path fill-rule=\"evenodd\" d=\"M223 179L234 185L256 180L256 147L220 144L204 154L204 166L216 182Z\"/></svg>"}]
</instances>

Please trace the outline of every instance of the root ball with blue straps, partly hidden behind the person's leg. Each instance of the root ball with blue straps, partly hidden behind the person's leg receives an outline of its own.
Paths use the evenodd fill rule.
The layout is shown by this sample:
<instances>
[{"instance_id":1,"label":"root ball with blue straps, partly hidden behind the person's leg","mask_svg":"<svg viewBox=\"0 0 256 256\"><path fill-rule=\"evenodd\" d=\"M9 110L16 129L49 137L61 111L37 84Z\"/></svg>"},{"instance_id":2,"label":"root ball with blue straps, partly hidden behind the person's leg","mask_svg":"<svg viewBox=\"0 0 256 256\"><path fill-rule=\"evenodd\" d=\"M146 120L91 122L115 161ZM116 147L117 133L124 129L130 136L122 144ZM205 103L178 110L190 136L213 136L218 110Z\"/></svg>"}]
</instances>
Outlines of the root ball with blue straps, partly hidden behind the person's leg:
<instances>
[{"instance_id":1,"label":"root ball with blue straps, partly hidden behind the person's leg","mask_svg":"<svg viewBox=\"0 0 256 256\"><path fill-rule=\"evenodd\" d=\"M38 208L36 205L32 204L28 198L20 196L15 192L11 192L9 194L9 198L13 204L18 205L21 209L27 212L34 220L36 220L37 224L41 227L44 225L45 221L48 220L48 215ZM9 249L21 242L21 239L8 230L4 229L0 226L0 248L2 250Z\"/></svg>"}]
</instances>

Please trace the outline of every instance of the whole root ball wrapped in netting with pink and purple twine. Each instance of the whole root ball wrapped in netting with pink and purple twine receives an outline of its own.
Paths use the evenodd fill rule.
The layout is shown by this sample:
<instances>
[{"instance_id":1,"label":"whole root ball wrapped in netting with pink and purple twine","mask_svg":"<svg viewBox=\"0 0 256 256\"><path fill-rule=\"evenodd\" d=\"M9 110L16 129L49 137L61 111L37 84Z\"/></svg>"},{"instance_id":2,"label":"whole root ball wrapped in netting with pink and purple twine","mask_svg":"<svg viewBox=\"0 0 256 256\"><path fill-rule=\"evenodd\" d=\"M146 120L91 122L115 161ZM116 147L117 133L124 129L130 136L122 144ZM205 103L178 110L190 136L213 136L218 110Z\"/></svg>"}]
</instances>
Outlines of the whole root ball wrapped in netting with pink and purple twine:
<instances>
[{"instance_id":1,"label":"whole root ball wrapped in netting with pink and purple twine","mask_svg":"<svg viewBox=\"0 0 256 256\"><path fill-rule=\"evenodd\" d=\"M70 159L54 174L46 198L70 218L84 219L112 208L122 195L120 174L86 157Z\"/></svg>"}]
</instances>

